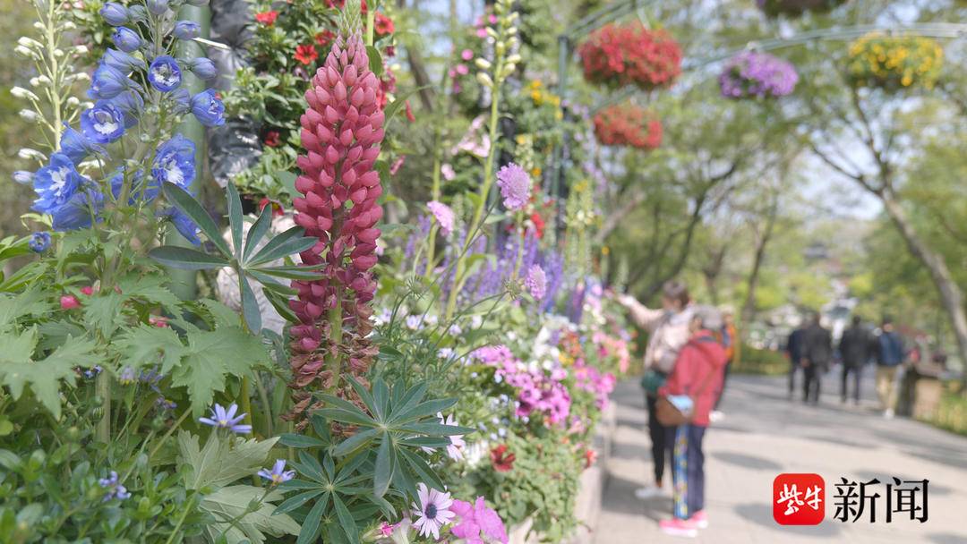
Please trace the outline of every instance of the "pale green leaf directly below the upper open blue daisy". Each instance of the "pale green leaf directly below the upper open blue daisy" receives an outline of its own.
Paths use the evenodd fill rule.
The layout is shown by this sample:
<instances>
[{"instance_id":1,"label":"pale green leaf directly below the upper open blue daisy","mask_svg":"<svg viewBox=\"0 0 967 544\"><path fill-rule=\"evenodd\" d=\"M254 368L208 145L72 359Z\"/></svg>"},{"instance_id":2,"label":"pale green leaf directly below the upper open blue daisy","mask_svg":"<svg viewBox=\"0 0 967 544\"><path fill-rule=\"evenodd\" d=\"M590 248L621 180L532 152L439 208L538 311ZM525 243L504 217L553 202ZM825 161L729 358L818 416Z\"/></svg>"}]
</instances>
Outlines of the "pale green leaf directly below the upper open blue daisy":
<instances>
[{"instance_id":1,"label":"pale green leaf directly below the upper open blue daisy","mask_svg":"<svg viewBox=\"0 0 967 544\"><path fill-rule=\"evenodd\" d=\"M203 447L198 437L178 433L179 465L187 468L185 487L219 488L258 472L265 464L278 437L257 441L226 437L212 431Z\"/></svg>"}]
</instances>

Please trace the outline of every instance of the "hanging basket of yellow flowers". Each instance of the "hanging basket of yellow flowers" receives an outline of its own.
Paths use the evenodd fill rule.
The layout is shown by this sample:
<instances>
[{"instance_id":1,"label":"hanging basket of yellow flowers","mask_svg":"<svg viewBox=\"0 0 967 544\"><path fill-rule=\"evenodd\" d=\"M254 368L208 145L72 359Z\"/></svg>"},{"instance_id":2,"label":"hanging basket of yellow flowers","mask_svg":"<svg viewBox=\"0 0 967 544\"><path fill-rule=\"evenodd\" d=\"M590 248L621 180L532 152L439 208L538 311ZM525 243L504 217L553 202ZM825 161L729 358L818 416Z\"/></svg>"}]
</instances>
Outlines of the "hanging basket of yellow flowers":
<instances>
[{"instance_id":1,"label":"hanging basket of yellow flowers","mask_svg":"<svg viewBox=\"0 0 967 544\"><path fill-rule=\"evenodd\" d=\"M872 32L850 45L847 74L858 87L930 89L943 62L944 49L934 40Z\"/></svg>"}]
</instances>

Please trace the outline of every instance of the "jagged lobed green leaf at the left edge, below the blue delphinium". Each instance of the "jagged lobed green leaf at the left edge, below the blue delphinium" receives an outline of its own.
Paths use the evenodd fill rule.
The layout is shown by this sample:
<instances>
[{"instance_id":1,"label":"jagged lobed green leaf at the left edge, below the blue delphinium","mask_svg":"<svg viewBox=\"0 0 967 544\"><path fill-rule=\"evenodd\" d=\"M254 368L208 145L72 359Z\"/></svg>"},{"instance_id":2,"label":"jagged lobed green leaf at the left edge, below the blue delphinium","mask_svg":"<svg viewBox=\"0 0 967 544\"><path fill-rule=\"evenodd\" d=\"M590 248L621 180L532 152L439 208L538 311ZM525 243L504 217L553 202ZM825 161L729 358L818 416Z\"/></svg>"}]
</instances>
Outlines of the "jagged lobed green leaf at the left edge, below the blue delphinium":
<instances>
[{"instance_id":1,"label":"jagged lobed green leaf at the left edge, below the blue delphinium","mask_svg":"<svg viewBox=\"0 0 967 544\"><path fill-rule=\"evenodd\" d=\"M29 386L55 419L60 419L61 415L61 380L73 386L75 367L89 368L102 360L95 353L97 344L93 340L70 337L50 356L35 361L32 356L37 346L36 328L19 333L0 333L0 346L3 346L0 350L0 383L10 389L14 400L20 398L24 387Z\"/></svg>"}]
</instances>

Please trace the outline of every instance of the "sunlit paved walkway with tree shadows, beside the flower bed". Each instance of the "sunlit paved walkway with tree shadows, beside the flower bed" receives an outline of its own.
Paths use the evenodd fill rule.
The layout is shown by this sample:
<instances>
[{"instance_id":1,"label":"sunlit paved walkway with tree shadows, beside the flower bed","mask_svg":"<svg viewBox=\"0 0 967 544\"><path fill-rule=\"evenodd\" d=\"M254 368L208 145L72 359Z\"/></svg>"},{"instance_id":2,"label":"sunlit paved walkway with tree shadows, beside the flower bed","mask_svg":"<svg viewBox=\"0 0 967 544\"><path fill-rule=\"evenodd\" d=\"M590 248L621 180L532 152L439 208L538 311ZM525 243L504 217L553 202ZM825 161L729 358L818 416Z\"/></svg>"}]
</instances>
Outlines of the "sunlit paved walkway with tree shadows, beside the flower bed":
<instances>
[{"instance_id":1,"label":"sunlit paved walkway with tree shadows, beside the flower bed","mask_svg":"<svg viewBox=\"0 0 967 544\"><path fill-rule=\"evenodd\" d=\"M726 417L705 439L706 511L711 526L697 542L787 544L809 542L932 544L967 543L967 439L922 423L885 420L875 412L867 379L860 407L842 407L833 375L819 407L786 397L784 379L732 376L722 410ZM835 387L834 387L835 386ZM835 389L831 390L831 389ZM638 501L633 490L652 478L650 443L641 390L634 382L615 391L618 425L596 544L652 544L688 539L666 536L658 520L670 498ZM929 520L842 523L833 519L827 491L826 521L813 527L781 527L773 521L772 484L780 472L816 472L828 486L845 476L857 481L891 476L929 482ZM670 478L666 471L665 478ZM665 487L670 487L666 481ZM881 492L881 495L883 493Z\"/></svg>"}]
</instances>

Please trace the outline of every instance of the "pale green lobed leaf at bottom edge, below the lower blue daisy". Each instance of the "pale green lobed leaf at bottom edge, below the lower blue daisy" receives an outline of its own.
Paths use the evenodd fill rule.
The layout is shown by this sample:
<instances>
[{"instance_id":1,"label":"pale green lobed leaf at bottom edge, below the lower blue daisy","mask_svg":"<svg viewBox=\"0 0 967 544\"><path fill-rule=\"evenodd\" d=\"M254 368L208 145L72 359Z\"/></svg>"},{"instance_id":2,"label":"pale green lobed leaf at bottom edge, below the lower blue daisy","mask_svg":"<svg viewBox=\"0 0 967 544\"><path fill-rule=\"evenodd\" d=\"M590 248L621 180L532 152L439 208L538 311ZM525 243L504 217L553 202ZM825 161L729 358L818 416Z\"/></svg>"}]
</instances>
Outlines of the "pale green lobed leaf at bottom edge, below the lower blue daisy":
<instances>
[{"instance_id":1,"label":"pale green lobed leaf at bottom edge, below the lower blue daisy","mask_svg":"<svg viewBox=\"0 0 967 544\"><path fill-rule=\"evenodd\" d=\"M259 501L258 509L249 511L249 503ZM251 485L232 485L221 488L215 493L206 495L199 507L218 520L214 524L205 525L205 531L211 541L215 541L224 533L230 544L251 542L263 544L266 535L276 537L273 541L286 534L299 534L299 524L287 514L272 515L276 505L273 501L282 498L278 491L271 491L267 495L265 489ZM231 523L234 520L234 523Z\"/></svg>"}]
</instances>

